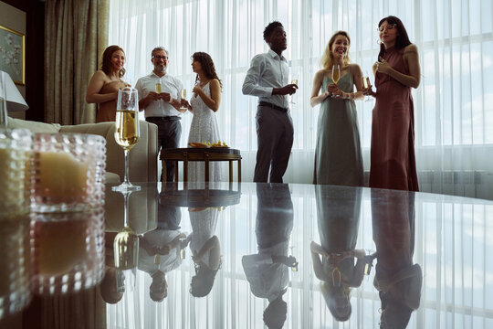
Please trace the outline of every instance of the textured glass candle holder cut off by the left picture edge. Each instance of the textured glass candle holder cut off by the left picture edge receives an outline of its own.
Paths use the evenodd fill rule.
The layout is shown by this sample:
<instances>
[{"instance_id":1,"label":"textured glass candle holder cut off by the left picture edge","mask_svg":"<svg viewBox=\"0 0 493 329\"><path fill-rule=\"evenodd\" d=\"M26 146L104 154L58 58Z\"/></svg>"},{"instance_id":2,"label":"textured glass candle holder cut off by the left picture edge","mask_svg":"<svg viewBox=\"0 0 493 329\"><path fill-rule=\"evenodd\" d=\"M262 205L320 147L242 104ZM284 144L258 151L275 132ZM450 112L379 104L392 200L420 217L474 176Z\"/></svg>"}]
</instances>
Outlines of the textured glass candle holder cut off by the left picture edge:
<instances>
[{"instance_id":1,"label":"textured glass candle holder cut off by the left picture edge","mask_svg":"<svg viewBox=\"0 0 493 329\"><path fill-rule=\"evenodd\" d=\"M0 220L29 212L32 134L0 128Z\"/></svg>"}]
</instances>

